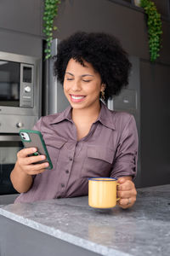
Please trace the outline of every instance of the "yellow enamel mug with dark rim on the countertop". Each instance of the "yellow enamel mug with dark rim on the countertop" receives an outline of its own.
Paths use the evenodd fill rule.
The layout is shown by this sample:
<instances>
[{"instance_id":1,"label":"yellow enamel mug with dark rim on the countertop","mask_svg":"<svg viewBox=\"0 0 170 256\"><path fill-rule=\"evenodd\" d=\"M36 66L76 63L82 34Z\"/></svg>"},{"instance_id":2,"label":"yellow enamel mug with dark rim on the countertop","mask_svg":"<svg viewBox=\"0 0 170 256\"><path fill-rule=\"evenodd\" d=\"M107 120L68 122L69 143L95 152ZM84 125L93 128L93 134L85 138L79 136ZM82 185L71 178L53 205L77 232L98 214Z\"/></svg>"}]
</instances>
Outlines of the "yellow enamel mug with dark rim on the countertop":
<instances>
[{"instance_id":1,"label":"yellow enamel mug with dark rim on the countertop","mask_svg":"<svg viewBox=\"0 0 170 256\"><path fill-rule=\"evenodd\" d=\"M91 177L88 179L88 205L94 208L112 208L116 206L117 178Z\"/></svg>"}]
</instances>

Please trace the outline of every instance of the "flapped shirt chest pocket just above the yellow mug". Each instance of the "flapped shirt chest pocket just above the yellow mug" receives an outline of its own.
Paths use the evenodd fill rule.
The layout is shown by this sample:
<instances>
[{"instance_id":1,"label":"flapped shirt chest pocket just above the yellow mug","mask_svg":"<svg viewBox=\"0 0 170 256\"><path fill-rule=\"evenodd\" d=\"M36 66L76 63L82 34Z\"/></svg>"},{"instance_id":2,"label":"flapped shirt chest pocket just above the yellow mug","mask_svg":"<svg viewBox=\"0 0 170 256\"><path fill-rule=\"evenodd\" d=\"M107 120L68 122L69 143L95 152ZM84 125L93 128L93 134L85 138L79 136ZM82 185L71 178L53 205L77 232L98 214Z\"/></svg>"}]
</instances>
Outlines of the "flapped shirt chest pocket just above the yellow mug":
<instances>
[{"instance_id":1,"label":"flapped shirt chest pocket just above the yellow mug","mask_svg":"<svg viewBox=\"0 0 170 256\"><path fill-rule=\"evenodd\" d=\"M110 177L115 151L111 148L88 146L82 166L82 177Z\"/></svg>"}]
</instances>

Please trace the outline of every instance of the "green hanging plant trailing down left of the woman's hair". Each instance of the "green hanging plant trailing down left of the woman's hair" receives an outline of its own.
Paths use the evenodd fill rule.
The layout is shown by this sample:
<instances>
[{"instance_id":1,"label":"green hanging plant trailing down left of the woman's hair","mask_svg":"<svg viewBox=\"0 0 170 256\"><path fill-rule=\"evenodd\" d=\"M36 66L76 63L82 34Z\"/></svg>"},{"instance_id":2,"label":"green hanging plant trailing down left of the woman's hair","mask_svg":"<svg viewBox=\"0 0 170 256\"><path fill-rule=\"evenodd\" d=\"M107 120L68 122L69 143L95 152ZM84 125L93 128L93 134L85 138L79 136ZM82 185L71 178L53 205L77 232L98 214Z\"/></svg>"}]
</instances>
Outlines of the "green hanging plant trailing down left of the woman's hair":
<instances>
[{"instance_id":1,"label":"green hanging plant trailing down left of the woman's hair","mask_svg":"<svg viewBox=\"0 0 170 256\"><path fill-rule=\"evenodd\" d=\"M54 18L58 15L59 0L45 0L44 2L44 12L43 12L43 32L46 37L47 46L44 49L45 59L51 57L51 43L53 40L53 32L57 30L54 26Z\"/></svg>"}]
</instances>

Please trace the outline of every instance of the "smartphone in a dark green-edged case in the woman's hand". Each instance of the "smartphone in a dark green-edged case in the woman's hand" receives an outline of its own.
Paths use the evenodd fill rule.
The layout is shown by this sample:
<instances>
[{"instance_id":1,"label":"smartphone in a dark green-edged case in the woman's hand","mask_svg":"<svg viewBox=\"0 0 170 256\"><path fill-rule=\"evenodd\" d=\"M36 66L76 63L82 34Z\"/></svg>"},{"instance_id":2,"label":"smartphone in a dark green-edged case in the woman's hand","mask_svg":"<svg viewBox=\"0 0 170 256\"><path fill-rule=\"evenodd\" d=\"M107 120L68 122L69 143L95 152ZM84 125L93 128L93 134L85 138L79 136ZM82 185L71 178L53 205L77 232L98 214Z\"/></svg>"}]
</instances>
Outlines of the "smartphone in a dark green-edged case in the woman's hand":
<instances>
[{"instance_id":1,"label":"smartphone in a dark green-edged case in the woman's hand","mask_svg":"<svg viewBox=\"0 0 170 256\"><path fill-rule=\"evenodd\" d=\"M52 164L52 161L50 160L48 149L46 148L46 145L44 143L42 133L40 131L22 129L20 130L19 134L25 148L37 148L37 152L31 155L39 155L39 154L46 155L45 160L39 161L35 164L40 164L40 163L42 164L43 162L48 162L49 166L47 167L47 169L53 169L53 164Z\"/></svg>"}]
</instances>

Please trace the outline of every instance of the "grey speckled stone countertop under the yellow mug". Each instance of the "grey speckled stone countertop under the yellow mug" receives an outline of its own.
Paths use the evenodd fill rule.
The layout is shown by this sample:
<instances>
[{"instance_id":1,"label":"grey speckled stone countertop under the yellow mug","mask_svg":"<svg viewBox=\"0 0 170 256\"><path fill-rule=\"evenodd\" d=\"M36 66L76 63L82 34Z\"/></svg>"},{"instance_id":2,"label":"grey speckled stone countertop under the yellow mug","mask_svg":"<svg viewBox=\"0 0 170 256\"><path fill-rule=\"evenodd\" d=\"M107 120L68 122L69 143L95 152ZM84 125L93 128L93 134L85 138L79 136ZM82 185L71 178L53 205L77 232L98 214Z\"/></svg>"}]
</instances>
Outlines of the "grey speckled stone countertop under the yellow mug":
<instances>
[{"instance_id":1,"label":"grey speckled stone countertop under the yellow mug","mask_svg":"<svg viewBox=\"0 0 170 256\"><path fill-rule=\"evenodd\" d=\"M127 210L94 209L85 196L12 204L0 214L101 255L170 255L170 185L138 189Z\"/></svg>"}]
</instances>

